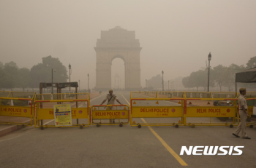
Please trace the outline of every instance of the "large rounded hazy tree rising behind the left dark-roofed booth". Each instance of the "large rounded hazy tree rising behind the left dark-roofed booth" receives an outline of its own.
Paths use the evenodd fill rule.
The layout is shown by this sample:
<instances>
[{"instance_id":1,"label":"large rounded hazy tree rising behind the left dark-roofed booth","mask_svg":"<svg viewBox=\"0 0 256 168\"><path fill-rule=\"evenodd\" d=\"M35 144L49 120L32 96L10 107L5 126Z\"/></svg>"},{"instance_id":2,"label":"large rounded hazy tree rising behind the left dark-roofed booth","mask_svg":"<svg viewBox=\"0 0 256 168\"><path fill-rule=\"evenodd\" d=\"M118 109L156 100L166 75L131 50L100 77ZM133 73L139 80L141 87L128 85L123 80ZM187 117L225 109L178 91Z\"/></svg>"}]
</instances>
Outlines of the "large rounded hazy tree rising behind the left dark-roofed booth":
<instances>
[{"instance_id":1,"label":"large rounded hazy tree rising behind the left dark-roofed booth","mask_svg":"<svg viewBox=\"0 0 256 168\"><path fill-rule=\"evenodd\" d=\"M34 65L31 68L32 87L38 87L39 82L51 82L51 72L53 73L53 82L66 82L67 68L60 62L59 58L55 57L42 57L42 63Z\"/></svg>"}]
</instances>

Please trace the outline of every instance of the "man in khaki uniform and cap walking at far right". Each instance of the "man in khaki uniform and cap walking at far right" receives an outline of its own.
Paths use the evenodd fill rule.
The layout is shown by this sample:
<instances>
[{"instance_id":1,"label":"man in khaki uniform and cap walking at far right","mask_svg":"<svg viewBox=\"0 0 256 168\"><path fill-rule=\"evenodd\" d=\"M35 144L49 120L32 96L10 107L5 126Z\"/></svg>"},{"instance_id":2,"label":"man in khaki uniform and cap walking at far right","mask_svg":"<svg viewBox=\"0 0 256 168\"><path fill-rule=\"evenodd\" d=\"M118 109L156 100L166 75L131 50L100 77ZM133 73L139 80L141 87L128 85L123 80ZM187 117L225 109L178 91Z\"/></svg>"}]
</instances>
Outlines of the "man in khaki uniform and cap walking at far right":
<instances>
[{"instance_id":1,"label":"man in khaki uniform and cap walking at far right","mask_svg":"<svg viewBox=\"0 0 256 168\"><path fill-rule=\"evenodd\" d=\"M235 132L233 132L232 135L234 135L235 137L239 137L239 132L241 131L241 136L244 138L244 139L251 139L250 137L248 137L246 135L246 116L249 116L249 114L247 113L247 103L246 103L246 100L245 100L245 97L244 95L246 95L246 89L244 87L240 88L239 89L239 92L240 92L240 96L239 96L239 99L238 99L238 103L239 103L239 116L240 116L240 124L238 125L237 129Z\"/></svg>"}]
</instances>

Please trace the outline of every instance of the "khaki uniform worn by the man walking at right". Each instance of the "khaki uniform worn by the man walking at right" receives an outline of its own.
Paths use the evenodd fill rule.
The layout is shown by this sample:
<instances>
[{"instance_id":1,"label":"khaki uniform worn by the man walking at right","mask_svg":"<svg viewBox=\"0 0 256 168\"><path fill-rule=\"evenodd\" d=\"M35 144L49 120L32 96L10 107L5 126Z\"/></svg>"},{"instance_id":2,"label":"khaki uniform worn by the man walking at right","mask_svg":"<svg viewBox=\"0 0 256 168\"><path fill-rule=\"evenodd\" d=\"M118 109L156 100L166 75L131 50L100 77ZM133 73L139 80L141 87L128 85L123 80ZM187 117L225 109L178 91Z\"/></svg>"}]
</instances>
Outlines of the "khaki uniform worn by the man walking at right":
<instances>
[{"instance_id":1,"label":"khaki uniform worn by the man walking at right","mask_svg":"<svg viewBox=\"0 0 256 168\"><path fill-rule=\"evenodd\" d=\"M246 135L246 113L244 113L243 109L242 109L242 105L244 105L244 108L247 111L247 103L246 100L244 98L244 95L240 95L238 98L238 103L239 103L239 116L240 116L240 123L236 129L235 132L233 132L235 135L239 135L239 132L241 131L241 137L247 137Z\"/></svg>"}]
</instances>

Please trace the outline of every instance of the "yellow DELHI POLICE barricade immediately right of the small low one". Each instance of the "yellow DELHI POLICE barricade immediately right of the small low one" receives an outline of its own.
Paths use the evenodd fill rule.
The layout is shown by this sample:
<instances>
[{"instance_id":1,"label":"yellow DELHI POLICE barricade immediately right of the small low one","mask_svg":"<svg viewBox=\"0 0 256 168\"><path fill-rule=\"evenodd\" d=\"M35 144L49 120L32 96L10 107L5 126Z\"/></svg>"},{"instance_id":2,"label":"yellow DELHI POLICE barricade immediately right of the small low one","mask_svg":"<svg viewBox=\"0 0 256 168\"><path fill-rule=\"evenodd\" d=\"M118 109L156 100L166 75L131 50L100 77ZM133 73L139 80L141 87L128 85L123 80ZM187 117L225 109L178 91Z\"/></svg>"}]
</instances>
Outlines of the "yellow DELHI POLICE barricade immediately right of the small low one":
<instances>
[{"instance_id":1,"label":"yellow DELHI POLICE barricade immediately right of the small low one","mask_svg":"<svg viewBox=\"0 0 256 168\"><path fill-rule=\"evenodd\" d=\"M131 92L131 126L184 125L184 92Z\"/></svg>"}]
</instances>

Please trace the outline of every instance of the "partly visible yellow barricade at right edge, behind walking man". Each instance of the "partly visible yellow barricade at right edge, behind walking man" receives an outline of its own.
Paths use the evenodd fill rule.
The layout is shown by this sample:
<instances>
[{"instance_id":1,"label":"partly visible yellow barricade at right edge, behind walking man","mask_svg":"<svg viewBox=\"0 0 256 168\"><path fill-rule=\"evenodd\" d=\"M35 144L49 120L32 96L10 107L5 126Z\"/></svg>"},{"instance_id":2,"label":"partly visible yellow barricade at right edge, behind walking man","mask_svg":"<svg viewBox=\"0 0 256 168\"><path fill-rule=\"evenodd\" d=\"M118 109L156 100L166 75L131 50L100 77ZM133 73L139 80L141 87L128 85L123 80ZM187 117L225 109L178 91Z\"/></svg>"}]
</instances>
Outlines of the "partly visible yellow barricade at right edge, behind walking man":
<instances>
[{"instance_id":1,"label":"partly visible yellow barricade at right edge, behind walking man","mask_svg":"<svg viewBox=\"0 0 256 168\"><path fill-rule=\"evenodd\" d=\"M256 125L256 121L252 121L253 109L256 106L256 92L246 92L245 95L246 103L248 105L247 112L249 114L249 118L247 118L246 126L253 128Z\"/></svg>"}]
</instances>

